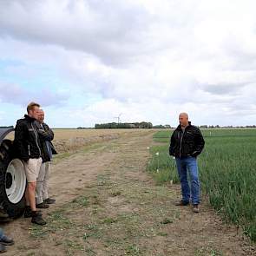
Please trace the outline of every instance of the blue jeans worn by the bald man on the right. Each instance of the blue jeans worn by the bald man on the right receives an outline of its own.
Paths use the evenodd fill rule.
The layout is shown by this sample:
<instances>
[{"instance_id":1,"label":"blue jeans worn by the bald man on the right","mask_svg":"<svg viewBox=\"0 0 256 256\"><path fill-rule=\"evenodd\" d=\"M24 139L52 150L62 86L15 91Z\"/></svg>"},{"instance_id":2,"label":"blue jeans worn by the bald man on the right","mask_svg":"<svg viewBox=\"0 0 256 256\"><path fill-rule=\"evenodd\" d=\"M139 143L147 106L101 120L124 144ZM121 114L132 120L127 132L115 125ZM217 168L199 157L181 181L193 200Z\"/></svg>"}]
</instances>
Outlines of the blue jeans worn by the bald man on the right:
<instances>
[{"instance_id":1,"label":"blue jeans worn by the bald man on the right","mask_svg":"<svg viewBox=\"0 0 256 256\"><path fill-rule=\"evenodd\" d=\"M198 205L200 203L200 181L196 158L192 156L176 158L176 166L181 181L182 200L189 202L191 197L192 204ZM191 189L187 181L187 171L190 176Z\"/></svg>"}]
</instances>

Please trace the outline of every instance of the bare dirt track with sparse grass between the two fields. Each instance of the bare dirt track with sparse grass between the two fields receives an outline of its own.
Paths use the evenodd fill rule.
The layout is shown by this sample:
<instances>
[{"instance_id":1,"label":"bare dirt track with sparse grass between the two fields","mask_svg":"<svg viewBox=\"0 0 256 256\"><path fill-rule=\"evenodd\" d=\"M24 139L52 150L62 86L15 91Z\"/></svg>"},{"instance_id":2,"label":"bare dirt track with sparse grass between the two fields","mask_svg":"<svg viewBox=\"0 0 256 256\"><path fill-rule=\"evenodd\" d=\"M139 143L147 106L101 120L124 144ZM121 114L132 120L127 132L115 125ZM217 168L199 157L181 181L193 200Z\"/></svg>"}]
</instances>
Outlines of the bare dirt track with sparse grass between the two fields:
<instances>
[{"instance_id":1,"label":"bare dirt track with sparse grass between the two fields","mask_svg":"<svg viewBox=\"0 0 256 256\"><path fill-rule=\"evenodd\" d=\"M56 161L48 226L23 218L4 226L16 240L5 255L256 255L206 202L191 213L173 205L179 186L154 185L145 172L152 135L122 136Z\"/></svg>"}]
</instances>

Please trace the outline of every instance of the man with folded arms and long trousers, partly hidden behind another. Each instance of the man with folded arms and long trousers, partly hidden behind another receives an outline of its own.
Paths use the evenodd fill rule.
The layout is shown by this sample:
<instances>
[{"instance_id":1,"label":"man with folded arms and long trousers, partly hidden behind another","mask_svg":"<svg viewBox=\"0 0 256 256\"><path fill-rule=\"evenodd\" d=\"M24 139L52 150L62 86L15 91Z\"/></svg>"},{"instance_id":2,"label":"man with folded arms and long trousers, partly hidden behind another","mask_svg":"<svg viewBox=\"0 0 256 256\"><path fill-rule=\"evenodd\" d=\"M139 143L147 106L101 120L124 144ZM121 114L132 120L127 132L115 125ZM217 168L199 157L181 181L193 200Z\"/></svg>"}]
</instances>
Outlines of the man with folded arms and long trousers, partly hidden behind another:
<instances>
[{"instance_id":1,"label":"man with folded arms and long trousers, partly hidden behind another","mask_svg":"<svg viewBox=\"0 0 256 256\"><path fill-rule=\"evenodd\" d=\"M39 175L36 181L36 208L48 208L49 204L54 204L56 200L49 198L48 181L49 181L49 161L52 159L52 154L56 154L51 141L54 139L52 129L44 122L43 109L39 110L38 134L41 141L43 163L40 167Z\"/></svg>"}]
</instances>

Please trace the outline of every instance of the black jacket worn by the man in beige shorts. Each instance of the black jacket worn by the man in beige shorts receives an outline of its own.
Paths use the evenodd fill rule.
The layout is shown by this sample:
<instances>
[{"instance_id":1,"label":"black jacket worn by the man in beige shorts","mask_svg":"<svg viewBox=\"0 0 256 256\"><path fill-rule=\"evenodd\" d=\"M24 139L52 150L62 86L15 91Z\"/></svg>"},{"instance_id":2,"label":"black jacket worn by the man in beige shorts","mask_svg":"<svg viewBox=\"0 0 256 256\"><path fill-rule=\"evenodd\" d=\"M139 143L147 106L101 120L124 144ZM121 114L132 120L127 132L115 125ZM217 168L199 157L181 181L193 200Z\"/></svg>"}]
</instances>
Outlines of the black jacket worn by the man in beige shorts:
<instances>
[{"instance_id":1,"label":"black jacket worn by the man in beige shorts","mask_svg":"<svg viewBox=\"0 0 256 256\"><path fill-rule=\"evenodd\" d=\"M41 157L41 142L37 133L36 119L29 115L24 115L23 119L16 121L14 154L23 161Z\"/></svg>"}]
</instances>

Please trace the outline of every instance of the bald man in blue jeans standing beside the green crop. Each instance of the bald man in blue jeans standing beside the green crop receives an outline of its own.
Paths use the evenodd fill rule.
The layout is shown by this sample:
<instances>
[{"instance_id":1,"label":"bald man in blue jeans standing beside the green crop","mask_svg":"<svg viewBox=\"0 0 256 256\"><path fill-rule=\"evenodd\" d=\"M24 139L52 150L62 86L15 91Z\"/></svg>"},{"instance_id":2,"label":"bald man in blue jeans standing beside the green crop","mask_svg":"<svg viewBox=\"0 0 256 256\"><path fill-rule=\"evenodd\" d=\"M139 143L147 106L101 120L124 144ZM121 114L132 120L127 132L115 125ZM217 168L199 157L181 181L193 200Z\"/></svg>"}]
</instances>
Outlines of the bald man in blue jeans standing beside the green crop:
<instances>
[{"instance_id":1,"label":"bald man in blue jeans standing beside the green crop","mask_svg":"<svg viewBox=\"0 0 256 256\"><path fill-rule=\"evenodd\" d=\"M187 113L181 113L179 121L180 125L174 130L169 147L169 154L175 157L181 181L182 200L176 205L187 206L191 198L194 213L199 213L200 181L196 158L203 150L205 141L200 129L188 121ZM191 186L187 181L187 171Z\"/></svg>"}]
</instances>

